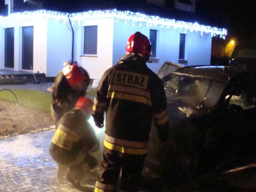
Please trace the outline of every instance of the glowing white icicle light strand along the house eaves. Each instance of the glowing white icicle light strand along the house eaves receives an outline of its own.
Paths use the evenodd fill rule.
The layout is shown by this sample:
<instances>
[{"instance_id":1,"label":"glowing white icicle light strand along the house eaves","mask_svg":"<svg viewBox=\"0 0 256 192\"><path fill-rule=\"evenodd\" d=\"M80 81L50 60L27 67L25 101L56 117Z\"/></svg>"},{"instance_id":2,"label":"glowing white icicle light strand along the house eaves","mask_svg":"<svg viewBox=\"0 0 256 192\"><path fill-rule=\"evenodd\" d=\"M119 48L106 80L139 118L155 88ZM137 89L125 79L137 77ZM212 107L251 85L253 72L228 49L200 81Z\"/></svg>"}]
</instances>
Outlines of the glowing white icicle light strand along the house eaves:
<instances>
[{"instance_id":1,"label":"glowing white icicle light strand along the house eaves","mask_svg":"<svg viewBox=\"0 0 256 192\"><path fill-rule=\"evenodd\" d=\"M204 33L210 33L212 37L219 36L223 39L225 39L225 36L227 35L227 30L225 28L200 25L197 22L192 23L168 18L161 18L159 16L141 14L139 12L118 11L116 9L86 11L72 14L47 10L17 12L11 13L5 17L0 16L0 24L2 24L4 28L6 28L8 26L16 24L17 22L20 22L21 20L35 20L39 18L46 18L47 21L54 20L54 22L62 20L63 25L65 26L66 22L68 22L68 17L70 17L72 25L76 23L80 25L82 22L86 22L87 20L92 19L115 18L116 22L120 22L120 20L122 20L124 21L124 24L127 24L128 21L131 21L132 26L136 26L136 24L138 24L138 26L142 26L142 22L145 22L147 27L156 27L159 25L160 28L166 27L167 29L169 29L170 27L172 27L174 29L184 29L184 32L187 32L188 30L190 32L200 31L201 35L203 35Z\"/></svg>"}]
</instances>

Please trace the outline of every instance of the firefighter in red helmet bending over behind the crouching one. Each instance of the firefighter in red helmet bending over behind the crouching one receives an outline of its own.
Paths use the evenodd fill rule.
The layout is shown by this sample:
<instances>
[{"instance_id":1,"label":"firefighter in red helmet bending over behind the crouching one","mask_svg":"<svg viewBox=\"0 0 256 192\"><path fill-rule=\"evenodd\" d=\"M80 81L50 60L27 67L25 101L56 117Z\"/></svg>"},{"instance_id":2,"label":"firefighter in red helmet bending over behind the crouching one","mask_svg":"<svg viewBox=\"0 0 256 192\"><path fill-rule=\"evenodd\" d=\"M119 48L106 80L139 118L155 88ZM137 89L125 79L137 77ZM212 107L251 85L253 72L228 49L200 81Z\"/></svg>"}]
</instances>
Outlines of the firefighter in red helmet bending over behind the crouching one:
<instances>
[{"instance_id":1,"label":"firefighter in red helmet bending over behind the crouching one","mask_svg":"<svg viewBox=\"0 0 256 192\"><path fill-rule=\"evenodd\" d=\"M68 64L60 71L52 87L52 118L57 122L74 107L79 97L86 95L90 78L86 70L76 64Z\"/></svg>"}]
</instances>

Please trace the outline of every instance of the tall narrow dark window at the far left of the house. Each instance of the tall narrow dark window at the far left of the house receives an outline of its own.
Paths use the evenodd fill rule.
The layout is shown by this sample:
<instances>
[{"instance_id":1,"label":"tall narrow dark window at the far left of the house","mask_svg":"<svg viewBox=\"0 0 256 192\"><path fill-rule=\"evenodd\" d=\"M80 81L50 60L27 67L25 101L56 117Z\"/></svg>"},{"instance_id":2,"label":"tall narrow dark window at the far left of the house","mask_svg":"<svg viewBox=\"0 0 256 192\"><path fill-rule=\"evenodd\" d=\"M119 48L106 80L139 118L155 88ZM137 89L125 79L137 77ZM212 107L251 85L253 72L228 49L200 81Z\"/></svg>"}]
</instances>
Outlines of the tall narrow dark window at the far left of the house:
<instances>
[{"instance_id":1,"label":"tall narrow dark window at the far left of the house","mask_svg":"<svg viewBox=\"0 0 256 192\"><path fill-rule=\"evenodd\" d=\"M14 28L4 30L4 67L14 68Z\"/></svg>"}]
</instances>

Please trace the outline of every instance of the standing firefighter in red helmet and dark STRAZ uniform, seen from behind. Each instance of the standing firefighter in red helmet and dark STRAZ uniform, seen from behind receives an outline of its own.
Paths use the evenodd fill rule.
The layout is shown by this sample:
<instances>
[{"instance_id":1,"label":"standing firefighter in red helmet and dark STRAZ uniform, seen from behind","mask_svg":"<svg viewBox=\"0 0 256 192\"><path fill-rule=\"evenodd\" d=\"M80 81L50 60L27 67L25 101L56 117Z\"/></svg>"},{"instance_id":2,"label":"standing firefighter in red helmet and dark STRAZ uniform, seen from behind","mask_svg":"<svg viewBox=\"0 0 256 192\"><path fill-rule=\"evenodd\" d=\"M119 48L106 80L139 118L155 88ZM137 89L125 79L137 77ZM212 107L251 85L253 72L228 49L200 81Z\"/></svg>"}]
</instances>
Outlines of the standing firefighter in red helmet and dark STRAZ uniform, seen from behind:
<instances>
[{"instance_id":1,"label":"standing firefighter in red helmet and dark STRAZ uniform, seen from behind","mask_svg":"<svg viewBox=\"0 0 256 192\"><path fill-rule=\"evenodd\" d=\"M122 191L137 192L144 159L148 152L149 132L154 120L162 141L169 135L169 118L164 86L146 62L151 44L136 32L128 39L126 54L106 70L97 88L93 113L96 126L104 126L104 160L94 192L116 190L122 168Z\"/></svg>"}]
</instances>

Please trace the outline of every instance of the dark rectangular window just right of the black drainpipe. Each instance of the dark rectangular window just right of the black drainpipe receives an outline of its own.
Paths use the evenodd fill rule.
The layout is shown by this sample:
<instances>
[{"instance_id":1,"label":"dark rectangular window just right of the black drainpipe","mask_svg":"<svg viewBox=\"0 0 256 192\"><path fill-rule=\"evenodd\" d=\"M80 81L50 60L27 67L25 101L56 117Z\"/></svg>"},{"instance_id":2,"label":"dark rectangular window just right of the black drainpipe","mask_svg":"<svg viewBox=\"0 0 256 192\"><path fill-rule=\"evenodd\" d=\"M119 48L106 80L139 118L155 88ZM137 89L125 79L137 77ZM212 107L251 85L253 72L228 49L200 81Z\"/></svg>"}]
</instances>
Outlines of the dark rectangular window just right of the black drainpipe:
<instances>
[{"instance_id":1,"label":"dark rectangular window just right of the black drainpipe","mask_svg":"<svg viewBox=\"0 0 256 192\"><path fill-rule=\"evenodd\" d=\"M84 26L84 54L96 55L98 26Z\"/></svg>"}]
</instances>

